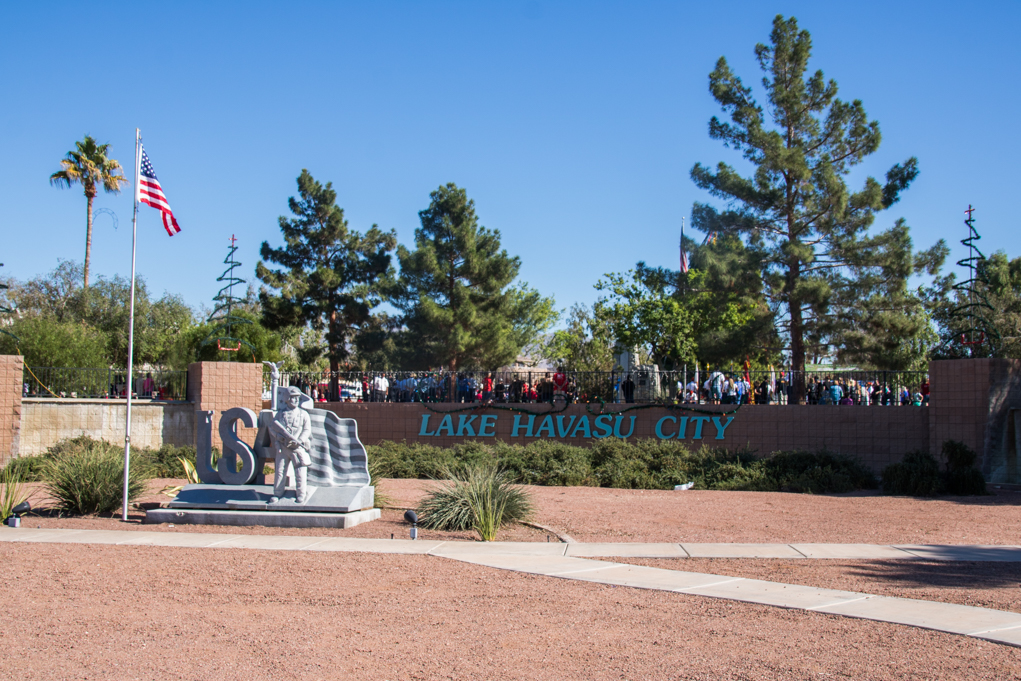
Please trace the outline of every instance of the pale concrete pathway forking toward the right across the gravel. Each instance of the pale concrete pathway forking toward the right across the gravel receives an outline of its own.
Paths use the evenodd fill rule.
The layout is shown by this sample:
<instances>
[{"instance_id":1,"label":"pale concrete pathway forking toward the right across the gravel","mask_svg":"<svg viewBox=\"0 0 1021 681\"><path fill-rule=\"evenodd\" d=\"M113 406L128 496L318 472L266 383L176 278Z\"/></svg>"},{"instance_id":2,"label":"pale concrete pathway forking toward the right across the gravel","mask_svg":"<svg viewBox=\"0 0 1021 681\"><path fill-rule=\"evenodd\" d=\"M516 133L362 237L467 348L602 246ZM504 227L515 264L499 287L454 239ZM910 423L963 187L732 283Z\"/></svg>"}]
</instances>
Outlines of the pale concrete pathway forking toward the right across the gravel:
<instances>
[{"instance_id":1,"label":"pale concrete pathway forking toward the right across the gravel","mask_svg":"<svg viewBox=\"0 0 1021 681\"><path fill-rule=\"evenodd\" d=\"M905 624L1021 647L1021 614L1018 613L591 560L592 557L613 556L678 558L691 556L1021 562L1021 546L483 543L133 530L32 530L27 528L18 530L0 528L0 541L426 553L489 568L560 579L692 593L712 598L728 598L749 603Z\"/></svg>"}]
</instances>

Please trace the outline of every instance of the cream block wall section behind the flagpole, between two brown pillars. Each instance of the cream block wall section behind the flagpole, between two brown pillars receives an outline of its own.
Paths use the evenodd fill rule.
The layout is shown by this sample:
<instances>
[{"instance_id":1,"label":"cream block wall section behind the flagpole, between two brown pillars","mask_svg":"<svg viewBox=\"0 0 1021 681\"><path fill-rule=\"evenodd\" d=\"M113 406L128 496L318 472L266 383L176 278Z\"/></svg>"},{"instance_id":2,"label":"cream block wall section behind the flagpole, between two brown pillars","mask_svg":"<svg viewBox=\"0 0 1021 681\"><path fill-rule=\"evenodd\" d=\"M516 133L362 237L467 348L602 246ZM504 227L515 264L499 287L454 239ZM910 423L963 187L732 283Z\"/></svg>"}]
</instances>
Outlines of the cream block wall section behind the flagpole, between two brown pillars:
<instances>
[{"instance_id":1,"label":"cream block wall section behind the flagpole, between two brown pillars","mask_svg":"<svg viewBox=\"0 0 1021 681\"><path fill-rule=\"evenodd\" d=\"M125 400L27 398L21 405L20 456L36 456L60 440L89 435L123 443ZM195 408L187 402L133 401L132 447L195 444Z\"/></svg>"}]
</instances>

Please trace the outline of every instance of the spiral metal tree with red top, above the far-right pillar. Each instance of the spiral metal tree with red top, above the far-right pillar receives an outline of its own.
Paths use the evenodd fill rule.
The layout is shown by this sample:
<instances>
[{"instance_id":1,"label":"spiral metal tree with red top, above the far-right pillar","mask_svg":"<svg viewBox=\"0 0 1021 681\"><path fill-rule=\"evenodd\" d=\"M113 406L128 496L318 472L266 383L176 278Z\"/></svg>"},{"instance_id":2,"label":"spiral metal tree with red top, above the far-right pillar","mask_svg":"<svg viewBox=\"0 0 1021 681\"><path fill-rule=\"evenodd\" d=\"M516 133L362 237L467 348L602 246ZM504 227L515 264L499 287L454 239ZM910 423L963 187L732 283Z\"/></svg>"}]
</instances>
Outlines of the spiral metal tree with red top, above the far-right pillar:
<instances>
[{"instance_id":1,"label":"spiral metal tree with red top, above the far-right pillar","mask_svg":"<svg viewBox=\"0 0 1021 681\"><path fill-rule=\"evenodd\" d=\"M958 260L958 264L968 271L968 279L954 285L954 290L958 293L958 304L951 310L952 328L955 331L955 337L951 341L956 343L957 334L960 334L960 343L965 348L965 353L972 357L980 356L979 348L983 344L988 344L988 353L994 354L1000 341L1000 333L988 318L993 308L985 297L989 279L985 274L985 255L975 245L982 237L975 230L975 218L972 215L974 210L971 205L965 210L968 214L968 218L964 221L968 226L968 237L961 240L968 247L968 257Z\"/></svg>"}]
</instances>

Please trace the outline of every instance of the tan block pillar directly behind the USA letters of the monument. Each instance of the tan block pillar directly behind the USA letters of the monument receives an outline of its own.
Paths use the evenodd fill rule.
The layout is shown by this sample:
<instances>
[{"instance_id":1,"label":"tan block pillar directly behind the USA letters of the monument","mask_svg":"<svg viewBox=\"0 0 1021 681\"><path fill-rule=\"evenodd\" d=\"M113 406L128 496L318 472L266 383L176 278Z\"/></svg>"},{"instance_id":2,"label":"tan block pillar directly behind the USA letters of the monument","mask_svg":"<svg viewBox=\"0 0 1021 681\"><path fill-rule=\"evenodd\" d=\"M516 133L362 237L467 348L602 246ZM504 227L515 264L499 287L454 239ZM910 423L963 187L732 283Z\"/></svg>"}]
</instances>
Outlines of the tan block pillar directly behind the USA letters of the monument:
<instances>
[{"instance_id":1,"label":"tan block pillar directly behind the USA letters of the monument","mask_svg":"<svg viewBox=\"0 0 1021 681\"><path fill-rule=\"evenodd\" d=\"M188 366L188 401L197 411L212 411L212 446L221 447L220 416L235 406L256 415L262 409L262 364L234 361L196 361ZM238 435L253 444L255 429L238 424Z\"/></svg>"}]
</instances>

